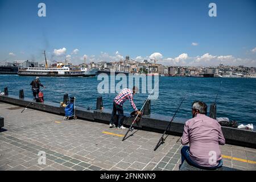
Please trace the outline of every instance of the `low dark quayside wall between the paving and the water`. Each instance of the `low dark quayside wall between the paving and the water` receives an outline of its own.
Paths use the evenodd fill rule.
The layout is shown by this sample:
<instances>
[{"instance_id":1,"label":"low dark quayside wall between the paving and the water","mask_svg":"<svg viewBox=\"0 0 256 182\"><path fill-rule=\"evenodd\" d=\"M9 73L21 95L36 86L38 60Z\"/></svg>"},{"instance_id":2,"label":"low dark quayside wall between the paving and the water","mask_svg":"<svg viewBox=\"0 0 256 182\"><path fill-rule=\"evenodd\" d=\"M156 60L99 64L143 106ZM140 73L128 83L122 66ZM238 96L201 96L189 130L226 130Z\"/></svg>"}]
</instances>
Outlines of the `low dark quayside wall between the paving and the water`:
<instances>
[{"instance_id":1,"label":"low dark quayside wall between the paving and the water","mask_svg":"<svg viewBox=\"0 0 256 182\"><path fill-rule=\"evenodd\" d=\"M1 102L7 102L13 105L19 105L26 107L31 100L28 99L19 99L15 96L0 96ZM48 113L64 115L64 108L60 107L59 104L55 104L52 102L44 102L36 103L33 102L32 104L28 105L31 109L46 111ZM93 122L102 122L109 124L111 112L112 110L104 109L104 110L87 110L81 107L76 107L76 115L80 119L85 119L87 121ZM129 113L125 113L126 118L124 125L129 126L133 122L134 118L129 116ZM117 121L117 117L115 118ZM166 115L159 115L159 114L150 114L144 116L141 119L141 122L136 123L134 126L135 128L141 130L148 130L148 131L155 131L159 133L163 133L163 131L168 126L171 117ZM181 136L183 133L184 123L187 119L185 118L175 118L174 122L171 123L170 130L168 130L168 134ZM236 144L239 146L251 147L256 148L256 132L255 131L248 131L248 130L241 130L241 129L234 129L232 127L222 127L222 132L226 139L226 143L229 144Z\"/></svg>"}]
</instances>

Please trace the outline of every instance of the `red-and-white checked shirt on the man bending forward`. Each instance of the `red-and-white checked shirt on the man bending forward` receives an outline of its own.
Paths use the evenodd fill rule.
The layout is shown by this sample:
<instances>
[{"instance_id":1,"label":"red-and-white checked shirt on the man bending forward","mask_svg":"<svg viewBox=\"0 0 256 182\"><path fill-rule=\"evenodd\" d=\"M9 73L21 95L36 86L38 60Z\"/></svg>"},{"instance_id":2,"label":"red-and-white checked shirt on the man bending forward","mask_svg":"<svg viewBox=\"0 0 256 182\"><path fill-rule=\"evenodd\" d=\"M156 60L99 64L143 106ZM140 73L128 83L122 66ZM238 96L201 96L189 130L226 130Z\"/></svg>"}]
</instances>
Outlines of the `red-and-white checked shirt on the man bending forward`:
<instances>
[{"instance_id":1,"label":"red-and-white checked shirt on the man bending forward","mask_svg":"<svg viewBox=\"0 0 256 182\"><path fill-rule=\"evenodd\" d=\"M120 106L123 106L123 102L126 100L129 100L131 102L131 106L134 110L138 110L133 102L133 92L131 89L123 89L117 97L114 98L115 104L118 104Z\"/></svg>"}]
</instances>

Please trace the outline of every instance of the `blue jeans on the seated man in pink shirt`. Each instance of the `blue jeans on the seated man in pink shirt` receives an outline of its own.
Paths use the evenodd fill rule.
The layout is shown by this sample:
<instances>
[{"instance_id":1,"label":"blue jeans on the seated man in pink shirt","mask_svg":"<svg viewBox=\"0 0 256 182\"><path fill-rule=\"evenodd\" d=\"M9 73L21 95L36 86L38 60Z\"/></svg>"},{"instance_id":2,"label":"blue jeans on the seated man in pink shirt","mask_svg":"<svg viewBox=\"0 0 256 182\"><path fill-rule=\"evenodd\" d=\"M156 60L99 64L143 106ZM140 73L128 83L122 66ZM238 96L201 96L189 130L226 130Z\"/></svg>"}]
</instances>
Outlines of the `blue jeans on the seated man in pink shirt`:
<instances>
[{"instance_id":1,"label":"blue jeans on the seated man in pink shirt","mask_svg":"<svg viewBox=\"0 0 256 182\"><path fill-rule=\"evenodd\" d=\"M204 169L216 169L216 168L221 167L223 164L222 159L220 160L218 165L214 166L214 167L204 167L204 166L200 166L200 165L196 164L195 162L193 162L193 160L191 160L191 158L189 156L189 147L188 146L184 146L181 148L181 164L183 164L184 160L187 160L187 162L189 164L191 164L192 166L195 166L197 168L204 168Z\"/></svg>"}]
</instances>

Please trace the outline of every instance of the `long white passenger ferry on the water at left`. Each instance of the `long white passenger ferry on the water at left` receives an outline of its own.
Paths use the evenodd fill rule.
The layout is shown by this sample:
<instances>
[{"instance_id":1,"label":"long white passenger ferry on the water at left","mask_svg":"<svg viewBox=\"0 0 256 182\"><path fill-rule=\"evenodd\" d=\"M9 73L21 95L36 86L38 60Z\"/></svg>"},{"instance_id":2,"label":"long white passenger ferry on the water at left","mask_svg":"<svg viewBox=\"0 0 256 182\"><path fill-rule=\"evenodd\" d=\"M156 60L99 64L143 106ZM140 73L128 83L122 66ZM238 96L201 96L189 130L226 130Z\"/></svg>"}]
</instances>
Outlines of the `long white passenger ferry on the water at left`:
<instances>
[{"instance_id":1,"label":"long white passenger ferry on the water at left","mask_svg":"<svg viewBox=\"0 0 256 182\"><path fill-rule=\"evenodd\" d=\"M96 76L98 69L88 69L83 67L71 67L71 65L63 65L59 68L19 68L20 76Z\"/></svg>"}]
</instances>

